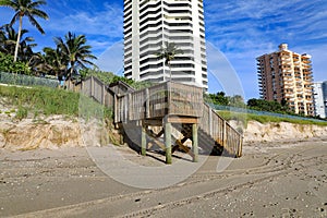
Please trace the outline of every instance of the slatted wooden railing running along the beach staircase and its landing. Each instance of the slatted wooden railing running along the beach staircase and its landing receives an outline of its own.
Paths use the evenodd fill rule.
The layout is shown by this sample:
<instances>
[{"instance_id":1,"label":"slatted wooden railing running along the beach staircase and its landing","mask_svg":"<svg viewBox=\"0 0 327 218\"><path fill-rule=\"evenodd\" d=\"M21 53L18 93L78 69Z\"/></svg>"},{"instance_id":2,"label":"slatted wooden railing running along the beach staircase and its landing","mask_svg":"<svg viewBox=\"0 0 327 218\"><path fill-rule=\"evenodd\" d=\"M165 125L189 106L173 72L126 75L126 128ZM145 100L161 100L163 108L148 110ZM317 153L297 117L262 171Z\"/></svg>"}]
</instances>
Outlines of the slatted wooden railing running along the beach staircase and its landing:
<instances>
[{"instance_id":1,"label":"slatted wooden railing running along the beach staircase and its landing","mask_svg":"<svg viewBox=\"0 0 327 218\"><path fill-rule=\"evenodd\" d=\"M166 116L198 118L198 126L223 146L230 155L242 155L243 136L214 109L204 104L203 89L173 82L161 83L141 90L123 94L119 87L109 88L92 76L78 88L114 111L114 123L143 119L162 119Z\"/></svg>"}]
</instances>

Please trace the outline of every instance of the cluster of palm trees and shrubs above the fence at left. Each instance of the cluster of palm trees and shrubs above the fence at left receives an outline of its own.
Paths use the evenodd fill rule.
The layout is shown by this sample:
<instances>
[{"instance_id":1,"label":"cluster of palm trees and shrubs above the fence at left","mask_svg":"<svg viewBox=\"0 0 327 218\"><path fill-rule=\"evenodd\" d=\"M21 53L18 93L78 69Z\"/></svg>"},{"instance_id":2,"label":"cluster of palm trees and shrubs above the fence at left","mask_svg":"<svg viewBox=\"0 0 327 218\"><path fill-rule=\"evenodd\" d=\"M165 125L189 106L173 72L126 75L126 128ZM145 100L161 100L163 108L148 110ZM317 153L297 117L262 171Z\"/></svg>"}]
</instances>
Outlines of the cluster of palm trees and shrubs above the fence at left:
<instances>
[{"instance_id":1,"label":"cluster of palm trees and shrubs above the fence at left","mask_svg":"<svg viewBox=\"0 0 327 218\"><path fill-rule=\"evenodd\" d=\"M96 66L93 60L92 47L87 45L85 35L66 33L64 37L55 37L55 48L45 47L35 52L35 39L27 36L28 31L23 28L23 17L41 34L45 31L37 19L48 20L49 16L39 8L45 0L1 0L0 7L14 11L10 23L0 26L0 71L29 75L49 74L60 77L72 77L78 69ZM13 25L19 22L19 29Z\"/></svg>"}]
</instances>

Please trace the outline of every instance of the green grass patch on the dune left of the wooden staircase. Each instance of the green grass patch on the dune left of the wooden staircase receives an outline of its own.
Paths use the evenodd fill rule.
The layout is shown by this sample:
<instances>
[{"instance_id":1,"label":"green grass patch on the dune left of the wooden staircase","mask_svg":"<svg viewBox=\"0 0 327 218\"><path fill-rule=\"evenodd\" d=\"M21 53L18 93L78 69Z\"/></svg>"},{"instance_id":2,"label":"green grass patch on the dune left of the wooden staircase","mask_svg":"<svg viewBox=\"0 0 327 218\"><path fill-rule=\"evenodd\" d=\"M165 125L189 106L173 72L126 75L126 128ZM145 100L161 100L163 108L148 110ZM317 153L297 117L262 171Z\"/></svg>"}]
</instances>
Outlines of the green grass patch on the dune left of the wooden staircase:
<instances>
[{"instance_id":1,"label":"green grass patch on the dune left of the wooden staircase","mask_svg":"<svg viewBox=\"0 0 327 218\"><path fill-rule=\"evenodd\" d=\"M17 108L16 118L20 120L27 114L81 116L85 119L112 117L110 109L78 93L64 89L0 86L0 96L2 104Z\"/></svg>"}]
</instances>

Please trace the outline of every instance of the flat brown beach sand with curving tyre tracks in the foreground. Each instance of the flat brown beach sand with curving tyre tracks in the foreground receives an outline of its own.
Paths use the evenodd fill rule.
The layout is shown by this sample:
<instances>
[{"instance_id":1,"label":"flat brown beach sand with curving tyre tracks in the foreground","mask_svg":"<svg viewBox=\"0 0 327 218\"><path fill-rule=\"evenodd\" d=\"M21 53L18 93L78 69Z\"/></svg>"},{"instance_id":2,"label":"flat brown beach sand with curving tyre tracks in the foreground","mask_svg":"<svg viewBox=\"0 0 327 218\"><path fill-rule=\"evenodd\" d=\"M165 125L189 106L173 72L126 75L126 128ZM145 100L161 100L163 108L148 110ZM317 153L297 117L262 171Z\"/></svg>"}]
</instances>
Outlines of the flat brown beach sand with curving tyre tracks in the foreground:
<instances>
[{"instance_id":1,"label":"flat brown beach sand with curving tyre tracks in the foreground","mask_svg":"<svg viewBox=\"0 0 327 218\"><path fill-rule=\"evenodd\" d=\"M119 149L138 165L165 165L160 155ZM246 144L217 172L221 158L174 185L138 189L104 173L85 147L0 149L0 217L327 216L326 138Z\"/></svg>"}]
</instances>

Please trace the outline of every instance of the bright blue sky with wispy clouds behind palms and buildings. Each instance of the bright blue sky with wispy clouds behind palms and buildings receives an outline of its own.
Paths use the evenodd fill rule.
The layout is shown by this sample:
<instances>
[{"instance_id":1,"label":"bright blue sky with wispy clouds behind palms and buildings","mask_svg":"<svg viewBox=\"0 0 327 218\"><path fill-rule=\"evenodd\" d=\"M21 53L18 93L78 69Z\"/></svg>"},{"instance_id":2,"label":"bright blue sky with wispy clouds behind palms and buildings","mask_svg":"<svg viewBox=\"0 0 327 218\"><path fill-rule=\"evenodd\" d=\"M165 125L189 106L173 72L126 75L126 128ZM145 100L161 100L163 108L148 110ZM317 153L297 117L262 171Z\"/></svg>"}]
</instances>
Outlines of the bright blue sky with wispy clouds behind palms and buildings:
<instances>
[{"instance_id":1,"label":"bright blue sky with wispy clouds behind palms and buildings","mask_svg":"<svg viewBox=\"0 0 327 218\"><path fill-rule=\"evenodd\" d=\"M204 0L204 9L208 45L226 58L229 70L234 70L245 99L259 97L255 58L277 50L281 43L295 52L312 55L314 80L327 81L326 0ZM84 34L99 57L98 64L121 73L123 0L56 0L43 10L50 17L38 20L46 35L26 20L23 24L39 45L36 50L55 47L52 38L69 31ZM0 24L9 23L12 15L12 10L0 8ZM210 55L208 59L216 58ZM222 68L217 73L228 80L227 71ZM209 80L210 93L226 89L223 82Z\"/></svg>"}]
</instances>

